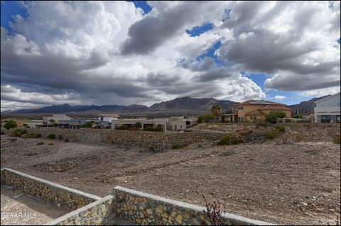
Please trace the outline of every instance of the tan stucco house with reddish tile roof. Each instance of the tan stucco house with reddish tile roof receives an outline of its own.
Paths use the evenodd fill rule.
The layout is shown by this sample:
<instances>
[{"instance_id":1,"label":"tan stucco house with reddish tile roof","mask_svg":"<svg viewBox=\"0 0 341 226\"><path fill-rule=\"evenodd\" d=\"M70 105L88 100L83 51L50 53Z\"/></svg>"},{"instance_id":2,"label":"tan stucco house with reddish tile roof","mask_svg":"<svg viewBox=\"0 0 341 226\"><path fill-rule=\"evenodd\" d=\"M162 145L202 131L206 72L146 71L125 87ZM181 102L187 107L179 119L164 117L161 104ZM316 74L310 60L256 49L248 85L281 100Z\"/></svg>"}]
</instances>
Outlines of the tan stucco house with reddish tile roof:
<instances>
[{"instance_id":1,"label":"tan stucco house with reddish tile roof","mask_svg":"<svg viewBox=\"0 0 341 226\"><path fill-rule=\"evenodd\" d=\"M281 111L286 113L287 118L291 118L291 108L283 103L249 100L232 106L232 111L227 111L225 114L225 121L235 123L264 119L265 115L271 111Z\"/></svg>"}]
</instances>

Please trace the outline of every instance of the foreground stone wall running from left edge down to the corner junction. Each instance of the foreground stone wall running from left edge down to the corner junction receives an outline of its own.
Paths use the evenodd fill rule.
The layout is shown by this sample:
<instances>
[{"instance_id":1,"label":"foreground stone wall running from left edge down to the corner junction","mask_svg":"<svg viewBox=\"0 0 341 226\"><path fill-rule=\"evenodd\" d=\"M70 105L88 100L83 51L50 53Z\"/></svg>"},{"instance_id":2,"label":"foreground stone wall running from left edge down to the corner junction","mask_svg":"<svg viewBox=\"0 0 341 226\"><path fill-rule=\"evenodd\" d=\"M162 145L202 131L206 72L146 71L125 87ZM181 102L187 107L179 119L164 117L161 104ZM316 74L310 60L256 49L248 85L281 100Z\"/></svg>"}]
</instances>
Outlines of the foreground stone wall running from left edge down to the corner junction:
<instances>
[{"instance_id":1,"label":"foreground stone wall running from left edge down to the corner junction","mask_svg":"<svg viewBox=\"0 0 341 226\"><path fill-rule=\"evenodd\" d=\"M3 170L4 184L19 188L32 196L42 198L49 203L62 206L67 210L76 210L77 208L101 199L101 197L67 188L13 169L4 168Z\"/></svg>"}]
</instances>

